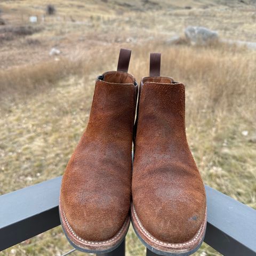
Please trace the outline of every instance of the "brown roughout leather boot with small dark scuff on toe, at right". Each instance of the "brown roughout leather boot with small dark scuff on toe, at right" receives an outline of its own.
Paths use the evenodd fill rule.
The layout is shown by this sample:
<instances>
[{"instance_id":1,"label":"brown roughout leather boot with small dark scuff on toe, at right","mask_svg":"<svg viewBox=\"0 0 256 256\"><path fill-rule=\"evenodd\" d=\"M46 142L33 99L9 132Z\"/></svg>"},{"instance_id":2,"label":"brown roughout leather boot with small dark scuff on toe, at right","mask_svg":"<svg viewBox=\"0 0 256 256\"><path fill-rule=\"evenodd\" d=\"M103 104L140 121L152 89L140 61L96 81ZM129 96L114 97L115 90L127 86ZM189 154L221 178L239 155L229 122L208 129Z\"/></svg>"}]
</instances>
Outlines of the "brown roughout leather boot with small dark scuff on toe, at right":
<instances>
[{"instance_id":1,"label":"brown roughout leather boot with small dark scuff on toe, at right","mask_svg":"<svg viewBox=\"0 0 256 256\"><path fill-rule=\"evenodd\" d=\"M185 86L160 76L160 62L150 54L140 83L131 218L149 250L184 256L204 239L205 189L186 138Z\"/></svg>"}]
</instances>

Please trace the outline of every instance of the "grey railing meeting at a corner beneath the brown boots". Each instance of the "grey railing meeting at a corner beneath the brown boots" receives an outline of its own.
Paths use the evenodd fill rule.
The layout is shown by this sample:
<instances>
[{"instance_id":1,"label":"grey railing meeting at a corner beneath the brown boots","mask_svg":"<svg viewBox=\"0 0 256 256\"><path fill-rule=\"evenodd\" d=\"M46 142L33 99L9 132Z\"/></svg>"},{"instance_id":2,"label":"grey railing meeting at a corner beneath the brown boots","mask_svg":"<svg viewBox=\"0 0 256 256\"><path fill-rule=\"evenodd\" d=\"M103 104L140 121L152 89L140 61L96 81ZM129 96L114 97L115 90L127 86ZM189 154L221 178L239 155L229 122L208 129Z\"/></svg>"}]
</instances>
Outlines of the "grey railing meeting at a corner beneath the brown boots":
<instances>
[{"instance_id":1,"label":"grey railing meeting at a corner beneath the brown boots","mask_svg":"<svg viewBox=\"0 0 256 256\"><path fill-rule=\"evenodd\" d=\"M0 251L60 225L61 178L0 196ZM204 242L223 255L256 255L256 210L205 186L207 229ZM122 243L114 252L124 255ZM147 251L147 255L156 255Z\"/></svg>"}]
</instances>

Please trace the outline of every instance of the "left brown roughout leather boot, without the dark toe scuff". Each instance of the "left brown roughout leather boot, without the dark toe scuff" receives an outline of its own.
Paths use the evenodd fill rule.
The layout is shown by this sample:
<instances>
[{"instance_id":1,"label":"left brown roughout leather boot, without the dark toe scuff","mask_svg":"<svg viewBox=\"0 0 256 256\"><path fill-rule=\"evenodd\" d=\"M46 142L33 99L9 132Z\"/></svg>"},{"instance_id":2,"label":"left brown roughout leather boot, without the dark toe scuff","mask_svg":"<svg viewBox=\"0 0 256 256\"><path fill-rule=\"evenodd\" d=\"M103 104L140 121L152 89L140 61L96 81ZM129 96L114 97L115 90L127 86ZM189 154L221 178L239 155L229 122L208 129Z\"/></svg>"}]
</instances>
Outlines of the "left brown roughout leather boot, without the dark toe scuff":
<instances>
[{"instance_id":1,"label":"left brown roughout leather boot, without the dark toe scuff","mask_svg":"<svg viewBox=\"0 0 256 256\"><path fill-rule=\"evenodd\" d=\"M117 71L98 77L89 123L62 179L62 228L71 245L83 252L114 250L130 225L137 100L137 83L127 73L130 55L121 49Z\"/></svg>"}]
</instances>

